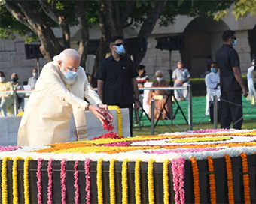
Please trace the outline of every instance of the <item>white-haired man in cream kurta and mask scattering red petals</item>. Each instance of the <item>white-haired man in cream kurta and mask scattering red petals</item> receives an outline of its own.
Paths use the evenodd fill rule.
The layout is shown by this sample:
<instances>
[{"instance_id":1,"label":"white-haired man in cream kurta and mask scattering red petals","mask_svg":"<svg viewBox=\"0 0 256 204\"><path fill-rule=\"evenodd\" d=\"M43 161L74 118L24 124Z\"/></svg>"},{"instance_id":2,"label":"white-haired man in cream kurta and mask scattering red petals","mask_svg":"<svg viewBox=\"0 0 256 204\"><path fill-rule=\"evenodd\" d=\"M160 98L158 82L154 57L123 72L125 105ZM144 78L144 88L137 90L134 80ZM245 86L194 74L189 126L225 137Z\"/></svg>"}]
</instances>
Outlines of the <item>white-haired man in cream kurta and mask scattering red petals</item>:
<instances>
[{"instance_id":1,"label":"white-haired man in cream kurta and mask scattering red petals","mask_svg":"<svg viewBox=\"0 0 256 204\"><path fill-rule=\"evenodd\" d=\"M100 121L112 119L108 107L102 104L88 83L79 62L78 52L66 49L54 57L53 62L44 65L35 90L26 104L17 145L68 142L72 113L81 140L87 139L84 110L92 111Z\"/></svg>"}]
</instances>

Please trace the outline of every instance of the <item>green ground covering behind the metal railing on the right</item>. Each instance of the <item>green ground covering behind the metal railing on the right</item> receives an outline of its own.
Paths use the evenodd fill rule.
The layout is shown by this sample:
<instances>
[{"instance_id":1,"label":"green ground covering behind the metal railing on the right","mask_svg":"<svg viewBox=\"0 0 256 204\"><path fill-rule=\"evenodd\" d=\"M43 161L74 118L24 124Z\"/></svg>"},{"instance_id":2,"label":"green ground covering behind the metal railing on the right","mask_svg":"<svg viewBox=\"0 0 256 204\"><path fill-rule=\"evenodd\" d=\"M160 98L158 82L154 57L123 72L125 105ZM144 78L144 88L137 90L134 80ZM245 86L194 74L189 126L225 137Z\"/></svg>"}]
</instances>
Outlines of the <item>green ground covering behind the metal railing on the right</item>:
<instances>
[{"instance_id":1,"label":"green ground covering behind the metal railing on the right","mask_svg":"<svg viewBox=\"0 0 256 204\"><path fill-rule=\"evenodd\" d=\"M184 114L187 117L187 101L179 101L181 109L184 111ZM242 129L255 129L256 128L256 106L252 106L250 101L246 101L243 98L243 116L244 121L242 124ZM192 99L193 107L193 130L199 129L208 129L213 128L213 124L209 122L209 116L205 115L206 111L206 97L193 97ZM173 110L177 109L177 105L173 104ZM133 118L135 121L135 118ZM150 122L146 116L142 117L140 122L142 130L139 130L138 124L133 124L133 135L147 135L150 134ZM220 125L218 124L218 127ZM181 115L181 112L178 111L173 124L170 121L159 121L157 127L155 128L155 134L166 133L166 132L177 132L187 130L188 126Z\"/></svg>"}]
</instances>

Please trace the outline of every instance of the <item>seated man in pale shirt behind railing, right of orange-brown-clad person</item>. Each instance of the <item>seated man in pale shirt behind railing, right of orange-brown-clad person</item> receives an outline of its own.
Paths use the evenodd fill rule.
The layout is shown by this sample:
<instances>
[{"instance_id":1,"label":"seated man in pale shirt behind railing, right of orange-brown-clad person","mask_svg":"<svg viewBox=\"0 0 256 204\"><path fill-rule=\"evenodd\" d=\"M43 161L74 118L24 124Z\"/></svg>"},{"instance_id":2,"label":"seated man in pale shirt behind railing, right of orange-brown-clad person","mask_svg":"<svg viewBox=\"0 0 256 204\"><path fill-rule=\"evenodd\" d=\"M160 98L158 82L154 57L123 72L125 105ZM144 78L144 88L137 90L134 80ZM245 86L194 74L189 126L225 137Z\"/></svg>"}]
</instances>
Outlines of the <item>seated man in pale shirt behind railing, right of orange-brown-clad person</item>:
<instances>
[{"instance_id":1,"label":"seated man in pale shirt behind railing, right of orange-brown-clad person","mask_svg":"<svg viewBox=\"0 0 256 204\"><path fill-rule=\"evenodd\" d=\"M178 62L178 68L172 73L172 79L174 81L174 86L187 86L189 84L190 73L183 67L183 62ZM175 98L178 101L184 101L187 99L187 90L175 90Z\"/></svg>"}]
</instances>

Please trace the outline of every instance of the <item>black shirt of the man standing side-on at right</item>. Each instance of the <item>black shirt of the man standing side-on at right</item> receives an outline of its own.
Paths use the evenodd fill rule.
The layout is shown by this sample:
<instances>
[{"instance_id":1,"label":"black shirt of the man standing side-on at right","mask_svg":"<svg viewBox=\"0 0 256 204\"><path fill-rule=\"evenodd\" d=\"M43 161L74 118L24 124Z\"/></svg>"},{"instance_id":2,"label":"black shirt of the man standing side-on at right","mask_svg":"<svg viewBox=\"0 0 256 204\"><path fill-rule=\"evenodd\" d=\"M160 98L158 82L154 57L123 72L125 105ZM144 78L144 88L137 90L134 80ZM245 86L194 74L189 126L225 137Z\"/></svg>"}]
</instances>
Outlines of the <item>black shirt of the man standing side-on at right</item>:
<instances>
[{"instance_id":1,"label":"black shirt of the man standing side-on at right","mask_svg":"<svg viewBox=\"0 0 256 204\"><path fill-rule=\"evenodd\" d=\"M221 90L224 92L241 90L232 69L240 65L239 56L233 46L223 44L216 52L215 58L221 70Z\"/></svg>"}]
</instances>

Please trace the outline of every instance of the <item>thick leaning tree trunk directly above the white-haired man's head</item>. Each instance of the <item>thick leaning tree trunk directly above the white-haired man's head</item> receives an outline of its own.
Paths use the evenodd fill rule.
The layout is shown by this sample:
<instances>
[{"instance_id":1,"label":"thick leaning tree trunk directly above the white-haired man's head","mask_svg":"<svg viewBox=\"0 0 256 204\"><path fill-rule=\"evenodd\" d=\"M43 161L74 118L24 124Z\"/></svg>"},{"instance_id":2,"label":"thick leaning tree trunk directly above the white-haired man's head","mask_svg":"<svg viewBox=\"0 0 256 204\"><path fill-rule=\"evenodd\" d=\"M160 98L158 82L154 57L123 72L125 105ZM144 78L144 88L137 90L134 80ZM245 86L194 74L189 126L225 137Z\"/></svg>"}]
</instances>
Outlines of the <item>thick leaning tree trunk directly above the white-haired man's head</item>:
<instances>
[{"instance_id":1,"label":"thick leaning tree trunk directly above the white-haired man's head","mask_svg":"<svg viewBox=\"0 0 256 204\"><path fill-rule=\"evenodd\" d=\"M38 35L41 40L41 53L47 59L51 61L54 55L58 55L62 51L62 46L53 34L52 29L47 24L47 20L44 16L35 10L34 5L31 1L16 1L20 8L23 10L30 26L33 31Z\"/></svg>"}]
</instances>

